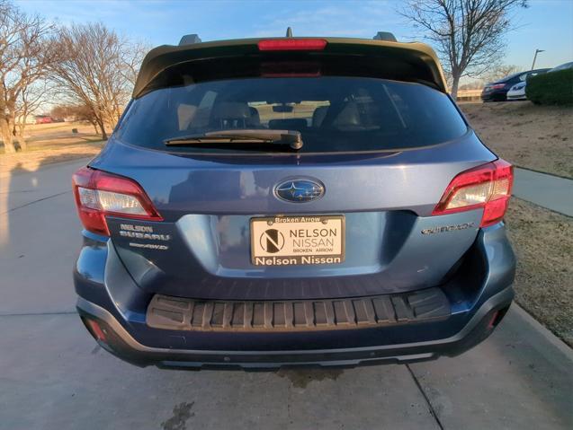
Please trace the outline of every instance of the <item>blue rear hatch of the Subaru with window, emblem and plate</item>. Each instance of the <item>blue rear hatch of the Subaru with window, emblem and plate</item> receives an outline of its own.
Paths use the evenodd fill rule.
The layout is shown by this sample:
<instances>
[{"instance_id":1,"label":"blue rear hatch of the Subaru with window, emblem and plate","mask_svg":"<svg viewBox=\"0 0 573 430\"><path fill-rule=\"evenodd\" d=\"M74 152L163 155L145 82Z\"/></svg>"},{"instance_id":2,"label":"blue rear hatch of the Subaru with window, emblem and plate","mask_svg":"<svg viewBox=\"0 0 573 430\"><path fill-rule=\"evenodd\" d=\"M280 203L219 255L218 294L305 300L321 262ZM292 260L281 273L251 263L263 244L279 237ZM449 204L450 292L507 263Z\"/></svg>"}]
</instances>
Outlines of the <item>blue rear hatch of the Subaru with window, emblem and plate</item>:
<instances>
[{"instance_id":1,"label":"blue rear hatch of the Subaru with window, emblem and plate","mask_svg":"<svg viewBox=\"0 0 573 430\"><path fill-rule=\"evenodd\" d=\"M434 208L458 173L495 155L443 93L427 48L326 40L148 56L90 163L135 180L161 217L106 216L139 287L193 299L358 297L440 285L461 262L483 208ZM246 129L297 131L304 145L197 141Z\"/></svg>"}]
</instances>

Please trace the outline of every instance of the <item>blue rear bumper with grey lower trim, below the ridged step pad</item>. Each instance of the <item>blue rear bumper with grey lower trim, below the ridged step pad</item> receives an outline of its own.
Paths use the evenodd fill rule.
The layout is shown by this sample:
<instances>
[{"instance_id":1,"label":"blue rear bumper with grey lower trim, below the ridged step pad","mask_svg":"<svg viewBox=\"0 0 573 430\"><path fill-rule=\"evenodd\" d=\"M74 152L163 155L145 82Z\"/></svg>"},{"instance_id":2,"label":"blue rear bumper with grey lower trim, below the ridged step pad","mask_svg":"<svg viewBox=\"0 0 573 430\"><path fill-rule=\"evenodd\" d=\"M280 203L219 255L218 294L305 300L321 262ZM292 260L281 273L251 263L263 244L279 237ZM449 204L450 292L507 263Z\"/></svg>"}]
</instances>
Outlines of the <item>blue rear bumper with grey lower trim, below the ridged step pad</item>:
<instances>
[{"instance_id":1,"label":"blue rear bumper with grey lower trim, below the ridged step pad","mask_svg":"<svg viewBox=\"0 0 573 430\"><path fill-rule=\"evenodd\" d=\"M134 283L111 243L89 235L85 236L76 264L75 285L79 295L77 311L94 338L98 338L98 333L90 326L90 320L101 329L100 345L132 364L276 368L419 361L459 355L487 338L501 320L513 299L514 276L515 256L504 224L497 224L479 232L461 266L443 285L435 287L447 297L448 309L445 315L427 320L404 320L395 308L390 312L393 317L389 324L365 327L357 315L356 327L350 329L314 327L256 332L209 325L201 329L157 324L153 327L146 313L153 294ZM417 293L406 296L409 294ZM392 297L389 299L393 301ZM407 298L405 301L401 303L416 302ZM309 320L305 323L309 326ZM255 323L246 325L255 328Z\"/></svg>"}]
</instances>

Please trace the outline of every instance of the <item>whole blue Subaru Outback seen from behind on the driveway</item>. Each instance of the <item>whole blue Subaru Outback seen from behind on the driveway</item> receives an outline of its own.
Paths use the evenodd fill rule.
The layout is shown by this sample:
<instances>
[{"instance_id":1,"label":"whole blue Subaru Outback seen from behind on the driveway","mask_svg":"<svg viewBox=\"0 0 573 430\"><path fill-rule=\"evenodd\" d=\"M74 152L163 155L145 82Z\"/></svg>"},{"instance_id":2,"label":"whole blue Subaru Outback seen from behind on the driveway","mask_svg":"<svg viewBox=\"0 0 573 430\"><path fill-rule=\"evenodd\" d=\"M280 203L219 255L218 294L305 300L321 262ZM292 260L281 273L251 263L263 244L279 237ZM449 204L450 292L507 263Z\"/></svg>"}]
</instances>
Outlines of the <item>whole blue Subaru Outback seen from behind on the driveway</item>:
<instances>
[{"instance_id":1,"label":"whole blue Subaru Outback seen from behind on the driveway","mask_svg":"<svg viewBox=\"0 0 573 430\"><path fill-rule=\"evenodd\" d=\"M74 175L77 310L138 365L458 355L514 295L512 181L424 44L185 37Z\"/></svg>"}]
</instances>

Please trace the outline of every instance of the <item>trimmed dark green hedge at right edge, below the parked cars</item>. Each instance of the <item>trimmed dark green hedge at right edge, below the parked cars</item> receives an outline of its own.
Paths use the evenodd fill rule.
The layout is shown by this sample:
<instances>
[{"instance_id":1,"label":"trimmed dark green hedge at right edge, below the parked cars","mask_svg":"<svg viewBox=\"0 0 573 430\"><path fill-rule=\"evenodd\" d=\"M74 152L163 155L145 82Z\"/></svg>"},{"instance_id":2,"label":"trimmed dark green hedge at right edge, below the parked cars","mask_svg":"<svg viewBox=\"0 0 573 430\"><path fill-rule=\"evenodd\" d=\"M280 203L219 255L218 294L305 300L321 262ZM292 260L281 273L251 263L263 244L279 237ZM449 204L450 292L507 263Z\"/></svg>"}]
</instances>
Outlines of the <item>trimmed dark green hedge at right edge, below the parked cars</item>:
<instances>
[{"instance_id":1,"label":"trimmed dark green hedge at right edge, below the parked cars","mask_svg":"<svg viewBox=\"0 0 573 430\"><path fill-rule=\"evenodd\" d=\"M525 94L535 104L573 104L573 69L532 76Z\"/></svg>"}]
</instances>

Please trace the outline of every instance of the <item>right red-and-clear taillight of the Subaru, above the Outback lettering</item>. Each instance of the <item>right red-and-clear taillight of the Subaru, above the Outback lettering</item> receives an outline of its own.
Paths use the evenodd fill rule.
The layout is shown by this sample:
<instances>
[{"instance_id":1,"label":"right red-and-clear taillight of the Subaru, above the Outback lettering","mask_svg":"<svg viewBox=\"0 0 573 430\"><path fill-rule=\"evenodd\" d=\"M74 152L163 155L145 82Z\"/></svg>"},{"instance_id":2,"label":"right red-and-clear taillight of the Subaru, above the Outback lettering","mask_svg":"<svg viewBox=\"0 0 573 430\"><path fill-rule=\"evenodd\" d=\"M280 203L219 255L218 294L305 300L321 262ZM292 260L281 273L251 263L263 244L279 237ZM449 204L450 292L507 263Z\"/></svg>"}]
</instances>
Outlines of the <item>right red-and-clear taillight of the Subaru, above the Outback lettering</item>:
<instances>
[{"instance_id":1,"label":"right red-and-clear taillight of the Subaru, above the Outback lettering","mask_svg":"<svg viewBox=\"0 0 573 430\"><path fill-rule=\"evenodd\" d=\"M496 224L506 215L514 182L514 168L504 160L462 171L445 189L432 215L446 215L483 207L480 227Z\"/></svg>"}]
</instances>

